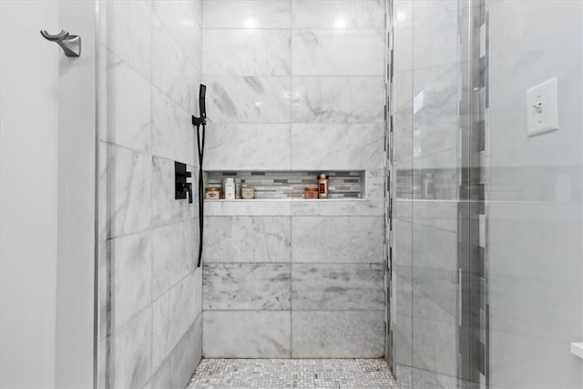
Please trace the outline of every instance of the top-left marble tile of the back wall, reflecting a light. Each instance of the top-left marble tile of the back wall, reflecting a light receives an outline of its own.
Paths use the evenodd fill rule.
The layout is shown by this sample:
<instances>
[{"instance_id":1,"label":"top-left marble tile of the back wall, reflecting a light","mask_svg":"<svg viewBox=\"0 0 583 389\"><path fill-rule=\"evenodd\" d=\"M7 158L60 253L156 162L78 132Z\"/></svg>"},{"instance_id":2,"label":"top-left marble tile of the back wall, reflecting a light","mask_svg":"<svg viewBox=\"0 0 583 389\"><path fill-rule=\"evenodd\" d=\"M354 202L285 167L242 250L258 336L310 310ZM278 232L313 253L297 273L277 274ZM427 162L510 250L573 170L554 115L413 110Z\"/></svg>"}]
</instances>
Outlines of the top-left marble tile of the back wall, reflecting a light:
<instances>
[{"instance_id":1,"label":"top-left marble tile of the back wall, reflecting a light","mask_svg":"<svg viewBox=\"0 0 583 389\"><path fill-rule=\"evenodd\" d=\"M290 28L290 1L205 1L203 28Z\"/></svg>"}]
</instances>

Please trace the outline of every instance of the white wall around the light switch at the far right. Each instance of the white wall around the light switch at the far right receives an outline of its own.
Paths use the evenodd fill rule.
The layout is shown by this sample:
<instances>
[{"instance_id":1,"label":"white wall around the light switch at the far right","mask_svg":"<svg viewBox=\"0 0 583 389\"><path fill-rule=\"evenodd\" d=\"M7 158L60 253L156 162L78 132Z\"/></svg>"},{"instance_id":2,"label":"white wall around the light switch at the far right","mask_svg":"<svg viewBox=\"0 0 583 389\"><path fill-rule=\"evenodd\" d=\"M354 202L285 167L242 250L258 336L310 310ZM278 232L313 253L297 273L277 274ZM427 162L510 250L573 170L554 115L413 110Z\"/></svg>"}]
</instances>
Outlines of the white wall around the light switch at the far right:
<instances>
[{"instance_id":1,"label":"white wall around the light switch at the far right","mask_svg":"<svg viewBox=\"0 0 583 389\"><path fill-rule=\"evenodd\" d=\"M583 2L489 9L491 382L583 387ZM557 77L560 129L528 138L526 89Z\"/></svg>"}]
</instances>

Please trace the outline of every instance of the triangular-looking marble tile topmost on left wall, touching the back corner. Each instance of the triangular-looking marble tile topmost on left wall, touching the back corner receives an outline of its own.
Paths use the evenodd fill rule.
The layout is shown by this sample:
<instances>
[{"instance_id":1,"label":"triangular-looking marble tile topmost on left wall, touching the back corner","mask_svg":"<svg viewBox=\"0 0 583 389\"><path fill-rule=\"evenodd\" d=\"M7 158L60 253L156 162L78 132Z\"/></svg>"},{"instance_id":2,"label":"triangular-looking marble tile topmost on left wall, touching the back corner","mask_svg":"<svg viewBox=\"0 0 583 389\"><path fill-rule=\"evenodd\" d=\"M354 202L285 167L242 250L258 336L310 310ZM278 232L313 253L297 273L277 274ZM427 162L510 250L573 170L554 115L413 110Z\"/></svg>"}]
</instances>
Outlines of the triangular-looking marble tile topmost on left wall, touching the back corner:
<instances>
[{"instance_id":1,"label":"triangular-looking marble tile topmost on left wall, touching the back corner","mask_svg":"<svg viewBox=\"0 0 583 389\"><path fill-rule=\"evenodd\" d=\"M202 2L153 0L152 9L190 61L200 68Z\"/></svg>"}]
</instances>

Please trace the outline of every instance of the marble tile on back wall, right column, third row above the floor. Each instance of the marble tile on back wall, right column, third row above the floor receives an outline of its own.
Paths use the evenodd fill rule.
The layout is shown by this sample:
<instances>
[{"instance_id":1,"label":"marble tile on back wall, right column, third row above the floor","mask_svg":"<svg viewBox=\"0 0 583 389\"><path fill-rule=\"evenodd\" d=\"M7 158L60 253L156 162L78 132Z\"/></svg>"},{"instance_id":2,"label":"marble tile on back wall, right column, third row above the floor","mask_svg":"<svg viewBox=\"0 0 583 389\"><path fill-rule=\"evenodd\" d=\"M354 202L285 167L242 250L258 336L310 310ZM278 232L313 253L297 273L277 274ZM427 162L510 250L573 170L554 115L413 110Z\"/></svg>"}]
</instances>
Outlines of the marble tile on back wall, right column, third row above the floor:
<instances>
[{"instance_id":1,"label":"marble tile on back wall, right column, third row above the floor","mask_svg":"<svg viewBox=\"0 0 583 389\"><path fill-rule=\"evenodd\" d=\"M384 261L384 218L292 218L292 262Z\"/></svg>"}]
</instances>

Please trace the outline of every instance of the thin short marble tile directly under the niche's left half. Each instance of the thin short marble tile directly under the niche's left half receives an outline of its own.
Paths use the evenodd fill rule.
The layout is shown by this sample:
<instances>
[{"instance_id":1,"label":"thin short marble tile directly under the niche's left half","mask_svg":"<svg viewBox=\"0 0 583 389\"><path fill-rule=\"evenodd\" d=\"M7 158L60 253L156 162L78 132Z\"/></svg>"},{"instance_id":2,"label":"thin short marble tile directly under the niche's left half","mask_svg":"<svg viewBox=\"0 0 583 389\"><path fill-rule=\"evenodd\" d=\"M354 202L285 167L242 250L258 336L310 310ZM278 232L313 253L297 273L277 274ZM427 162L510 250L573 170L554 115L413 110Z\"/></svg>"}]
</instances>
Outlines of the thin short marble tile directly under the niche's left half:
<instances>
[{"instance_id":1,"label":"thin short marble tile directly under the niche's left half","mask_svg":"<svg viewBox=\"0 0 583 389\"><path fill-rule=\"evenodd\" d=\"M292 202L281 200L208 200L205 216L290 216Z\"/></svg>"}]
</instances>

